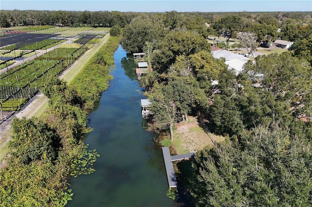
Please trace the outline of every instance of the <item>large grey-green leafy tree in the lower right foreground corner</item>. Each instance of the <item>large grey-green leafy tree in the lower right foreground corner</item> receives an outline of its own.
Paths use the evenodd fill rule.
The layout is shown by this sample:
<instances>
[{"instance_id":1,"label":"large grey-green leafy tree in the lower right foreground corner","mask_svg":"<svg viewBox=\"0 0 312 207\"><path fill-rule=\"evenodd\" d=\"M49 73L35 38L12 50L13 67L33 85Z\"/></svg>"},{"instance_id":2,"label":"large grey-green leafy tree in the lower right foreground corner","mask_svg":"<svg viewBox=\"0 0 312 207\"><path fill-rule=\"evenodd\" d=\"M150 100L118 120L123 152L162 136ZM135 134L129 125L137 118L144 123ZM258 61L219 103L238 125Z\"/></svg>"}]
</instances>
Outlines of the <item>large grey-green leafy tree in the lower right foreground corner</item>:
<instances>
[{"instance_id":1,"label":"large grey-green leafy tree in the lower right foreground corner","mask_svg":"<svg viewBox=\"0 0 312 207\"><path fill-rule=\"evenodd\" d=\"M194 204L207 206L309 206L311 144L278 125L243 131L195 155Z\"/></svg>"}]
</instances>

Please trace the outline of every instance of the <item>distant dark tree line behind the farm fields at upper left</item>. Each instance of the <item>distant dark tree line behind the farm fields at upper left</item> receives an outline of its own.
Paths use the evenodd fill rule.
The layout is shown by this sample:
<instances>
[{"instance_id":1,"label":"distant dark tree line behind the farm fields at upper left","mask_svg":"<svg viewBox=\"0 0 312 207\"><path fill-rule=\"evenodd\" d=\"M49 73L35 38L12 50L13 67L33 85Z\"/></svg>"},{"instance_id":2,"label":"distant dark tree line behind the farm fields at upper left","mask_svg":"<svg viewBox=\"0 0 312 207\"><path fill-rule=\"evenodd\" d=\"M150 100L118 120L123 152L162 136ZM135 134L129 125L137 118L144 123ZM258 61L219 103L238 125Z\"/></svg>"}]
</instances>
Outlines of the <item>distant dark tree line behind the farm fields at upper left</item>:
<instances>
[{"instance_id":1,"label":"distant dark tree line behind the farm fields at upper left","mask_svg":"<svg viewBox=\"0 0 312 207\"><path fill-rule=\"evenodd\" d=\"M118 11L37 11L37 10L1 10L0 27L14 26L92 26L124 27L137 13Z\"/></svg>"}]
</instances>

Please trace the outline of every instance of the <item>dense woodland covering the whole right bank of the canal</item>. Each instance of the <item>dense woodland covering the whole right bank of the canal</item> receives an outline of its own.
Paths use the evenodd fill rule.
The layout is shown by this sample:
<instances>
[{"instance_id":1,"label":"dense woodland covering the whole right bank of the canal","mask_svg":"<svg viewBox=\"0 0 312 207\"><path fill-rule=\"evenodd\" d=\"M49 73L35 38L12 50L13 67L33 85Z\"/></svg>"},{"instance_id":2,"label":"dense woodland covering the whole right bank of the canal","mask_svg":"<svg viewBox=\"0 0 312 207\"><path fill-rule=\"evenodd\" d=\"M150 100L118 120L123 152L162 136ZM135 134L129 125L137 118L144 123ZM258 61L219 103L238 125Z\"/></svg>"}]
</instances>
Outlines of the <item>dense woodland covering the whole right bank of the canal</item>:
<instances>
[{"instance_id":1,"label":"dense woodland covering the whole right bank of the canal","mask_svg":"<svg viewBox=\"0 0 312 207\"><path fill-rule=\"evenodd\" d=\"M121 43L129 53L145 52L153 69L140 80L153 100L153 130L174 139L175 124L197 116L202 127L226 137L195 156L189 186L194 206L309 206L311 17L301 19L307 25L293 27L301 35L289 39L290 51L257 56L236 76L225 59L213 58L207 33L228 32L232 38L264 26L263 40L277 34L279 25L292 24L290 17L264 14L247 27L244 18L225 15L209 29L205 19L176 11L141 15L125 26Z\"/></svg>"}]
</instances>

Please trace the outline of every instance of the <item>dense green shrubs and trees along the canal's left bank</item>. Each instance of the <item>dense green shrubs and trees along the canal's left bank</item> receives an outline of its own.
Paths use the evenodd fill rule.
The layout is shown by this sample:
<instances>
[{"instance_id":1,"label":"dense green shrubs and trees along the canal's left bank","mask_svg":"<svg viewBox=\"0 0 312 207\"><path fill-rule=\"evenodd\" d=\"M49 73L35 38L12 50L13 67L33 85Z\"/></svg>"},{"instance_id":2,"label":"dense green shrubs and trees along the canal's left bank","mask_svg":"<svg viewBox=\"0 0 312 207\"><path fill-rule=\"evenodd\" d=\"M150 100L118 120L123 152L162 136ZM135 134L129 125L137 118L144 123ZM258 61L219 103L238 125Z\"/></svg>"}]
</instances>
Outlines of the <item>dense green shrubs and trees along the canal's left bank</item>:
<instances>
[{"instance_id":1,"label":"dense green shrubs and trees along the canal's left bank","mask_svg":"<svg viewBox=\"0 0 312 207\"><path fill-rule=\"evenodd\" d=\"M110 37L69 85L59 78L47 82L42 92L49 106L42 116L13 120L11 156L0 171L0 206L65 206L73 195L69 178L95 171L99 155L88 150L83 135L92 130L87 115L112 78L120 39Z\"/></svg>"}]
</instances>

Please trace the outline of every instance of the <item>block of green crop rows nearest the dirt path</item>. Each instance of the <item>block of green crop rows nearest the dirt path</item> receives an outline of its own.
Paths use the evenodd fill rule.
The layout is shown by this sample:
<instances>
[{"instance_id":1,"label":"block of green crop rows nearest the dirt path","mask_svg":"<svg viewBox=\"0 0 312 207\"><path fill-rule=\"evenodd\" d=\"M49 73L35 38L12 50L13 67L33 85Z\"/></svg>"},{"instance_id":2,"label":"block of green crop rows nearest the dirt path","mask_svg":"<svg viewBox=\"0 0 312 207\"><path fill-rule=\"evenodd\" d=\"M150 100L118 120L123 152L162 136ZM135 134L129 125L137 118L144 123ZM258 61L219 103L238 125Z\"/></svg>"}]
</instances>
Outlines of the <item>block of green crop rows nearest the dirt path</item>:
<instances>
[{"instance_id":1,"label":"block of green crop rows nearest the dirt path","mask_svg":"<svg viewBox=\"0 0 312 207\"><path fill-rule=\"evenodd\" d=\"M12 102L17 97L22 99L24 96L28 96L30 99L49 78L59 75L81 54L86 52L90 46L91 44L82 45L79 48L59 47L35 58L34 64L25 64L18 70L6 72L0 77L0 86L8 86L8 88L1 88L1 91L3 91L1 96L4 100L2 99L0 104L8 103L10 99ZM57 64L55 64L56 62ZM51 64L55 65L48 68L48 65ZM20 105L15 106L17 110L20 109ZM7 109L12 110L12 104L11 109L10 107L7 107Z\"/></svg>"}]
</instances>

